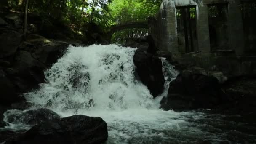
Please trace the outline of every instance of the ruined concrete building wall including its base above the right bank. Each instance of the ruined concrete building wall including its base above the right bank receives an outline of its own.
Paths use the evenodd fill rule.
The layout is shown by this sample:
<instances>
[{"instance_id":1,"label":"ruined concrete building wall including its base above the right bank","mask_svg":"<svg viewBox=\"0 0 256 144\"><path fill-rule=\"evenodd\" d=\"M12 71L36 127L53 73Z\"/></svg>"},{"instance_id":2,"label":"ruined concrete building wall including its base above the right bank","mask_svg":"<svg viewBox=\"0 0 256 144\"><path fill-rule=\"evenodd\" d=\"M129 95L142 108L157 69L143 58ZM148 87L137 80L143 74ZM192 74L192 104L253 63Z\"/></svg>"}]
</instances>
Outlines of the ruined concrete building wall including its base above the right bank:
<instances>
[{"instance_id":1,"label":"ruined concrete building wall including its base above the right bank","mask_svg":"<svg viewBox=\"0 0 256 144\"><path fill-rule=\"evenodd\" d=\"M228 5L228 48L212 51L209 37L208 5L227 3ZM180 64L200 67L205 71L218 71L224 75L256 74L256 55L245 55L241 0L164 0L160 13L151 21L152 36L160 51L172 53L172 59ZM177 40L176 7L196 6L198 51L179 52ZM255 48L256 49L256 48Z\"/></svg>"}]
</instances>

